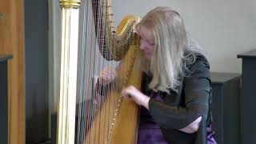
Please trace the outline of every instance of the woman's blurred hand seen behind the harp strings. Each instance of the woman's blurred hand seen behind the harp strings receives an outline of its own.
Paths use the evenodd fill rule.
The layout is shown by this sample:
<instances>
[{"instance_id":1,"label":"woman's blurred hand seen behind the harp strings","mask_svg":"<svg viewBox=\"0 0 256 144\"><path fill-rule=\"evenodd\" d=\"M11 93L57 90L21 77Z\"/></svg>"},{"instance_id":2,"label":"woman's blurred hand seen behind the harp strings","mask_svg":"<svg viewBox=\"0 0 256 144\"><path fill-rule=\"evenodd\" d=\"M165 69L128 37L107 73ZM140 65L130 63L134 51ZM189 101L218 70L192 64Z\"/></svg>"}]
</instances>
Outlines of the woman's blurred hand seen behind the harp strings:
<instances>
[{"instance_id":1,"label":"woman's blurred hand seen behind the harp strings","mask_svg":"<svg viewBox=\"0 0 256 144\"><path fill-rule=\"evenodd\" d=\"M105 67L100 74L98 75L98 82L103 86L114 81L114 78L117 77L117 71L113 67Z\"/></svg>"}]
</instances>

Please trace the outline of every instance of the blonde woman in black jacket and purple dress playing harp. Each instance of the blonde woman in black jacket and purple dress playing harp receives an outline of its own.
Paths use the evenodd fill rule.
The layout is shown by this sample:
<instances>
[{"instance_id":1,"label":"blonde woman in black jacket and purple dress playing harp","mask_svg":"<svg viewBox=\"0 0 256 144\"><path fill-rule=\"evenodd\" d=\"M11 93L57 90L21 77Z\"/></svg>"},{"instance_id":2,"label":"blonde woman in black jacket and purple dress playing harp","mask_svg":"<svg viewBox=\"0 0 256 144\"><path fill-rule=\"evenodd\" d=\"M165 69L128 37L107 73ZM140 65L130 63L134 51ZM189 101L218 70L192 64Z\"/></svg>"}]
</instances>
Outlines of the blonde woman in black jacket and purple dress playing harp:
<instances>
[{"instance_id":1,"label":"blonde woman in black jacket and purple dress playing harp","mask_svg":"<svg viewBox=\"0 0 256 144\"><path fill-rule=\"evenodd\" d=\"M142 91L128 86L122 96L144 107L138 143L217 143L210 128L210 66L186 33L182 17L169 7L157 7L135 29L148 64ZM107 71L99 77L106 83L114 78L104 77Z\"/></svg>"}]
</instances>

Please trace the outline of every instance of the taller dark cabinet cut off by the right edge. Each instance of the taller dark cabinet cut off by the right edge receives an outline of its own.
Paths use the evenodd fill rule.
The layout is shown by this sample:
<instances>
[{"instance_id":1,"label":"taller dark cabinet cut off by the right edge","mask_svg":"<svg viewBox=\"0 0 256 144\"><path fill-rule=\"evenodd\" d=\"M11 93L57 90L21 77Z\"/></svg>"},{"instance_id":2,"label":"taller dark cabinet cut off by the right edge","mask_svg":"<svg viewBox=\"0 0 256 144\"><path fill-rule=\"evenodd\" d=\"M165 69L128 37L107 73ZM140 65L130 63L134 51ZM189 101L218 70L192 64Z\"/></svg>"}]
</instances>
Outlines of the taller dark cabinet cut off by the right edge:
<instances>
[{"instance_id":1,"label":"taller dark cabinet cut off by the right edge","mask_svg":"<svg viewBox=\"0 0 256 144\"><path fill-rule=\"evenodd\" d=\"M238 54L242 58L242 144L256 143L256 50Z\"/></svg>"}]
</instances>

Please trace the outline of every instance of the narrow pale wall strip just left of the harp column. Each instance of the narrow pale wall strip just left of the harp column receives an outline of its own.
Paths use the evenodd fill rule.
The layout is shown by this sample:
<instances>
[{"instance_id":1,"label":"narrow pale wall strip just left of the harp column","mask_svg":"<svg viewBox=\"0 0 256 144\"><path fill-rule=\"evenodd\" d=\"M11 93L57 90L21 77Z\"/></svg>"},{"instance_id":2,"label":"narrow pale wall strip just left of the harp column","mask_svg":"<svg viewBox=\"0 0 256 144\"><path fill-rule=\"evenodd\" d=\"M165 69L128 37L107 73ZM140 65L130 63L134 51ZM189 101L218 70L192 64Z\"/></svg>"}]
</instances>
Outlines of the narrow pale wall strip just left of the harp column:
<instances>
[{"instance_id":1,"label":"narrow pale wall strip just left of the harp column","mask_svg":"<svg viewBox=\"0 0 256 144\"><path fill-rule=\"evenodd\" d=\"M61 32L61 9L57 0L48 0L49 11L49 50L48 50L48 69L49 69L49 138L51 126L51 114L57 111L59 75L60 75L60 32Z\"/></svg>"}]
</instances>

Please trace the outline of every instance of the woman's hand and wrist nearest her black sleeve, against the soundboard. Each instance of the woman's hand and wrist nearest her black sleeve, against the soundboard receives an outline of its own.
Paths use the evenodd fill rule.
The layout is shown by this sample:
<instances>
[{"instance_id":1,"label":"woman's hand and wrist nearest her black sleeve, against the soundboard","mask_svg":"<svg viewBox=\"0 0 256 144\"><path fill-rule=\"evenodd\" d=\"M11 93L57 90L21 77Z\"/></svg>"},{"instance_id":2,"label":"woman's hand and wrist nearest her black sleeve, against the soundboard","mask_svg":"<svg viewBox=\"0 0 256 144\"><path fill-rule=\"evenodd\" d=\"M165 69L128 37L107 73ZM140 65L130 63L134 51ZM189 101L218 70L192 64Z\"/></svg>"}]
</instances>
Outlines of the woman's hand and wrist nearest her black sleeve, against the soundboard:
<instances>
[{"instance_id":1,"label":"woman's hand and wrist nearest her black sleeve, against the soundboard","mask_svg":"<svg viewBox=\"0 0 256 144\"><path fill-rule=\"evenodd\" d=\"M149 110L150 97L142 94L142 92L136 89L136 87L128 86L122 90L121 94L125 98L133 98L138 105L144 106Z\"/></svg>"}]
</instances>

